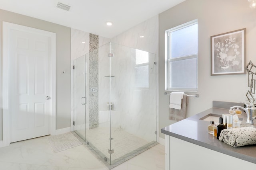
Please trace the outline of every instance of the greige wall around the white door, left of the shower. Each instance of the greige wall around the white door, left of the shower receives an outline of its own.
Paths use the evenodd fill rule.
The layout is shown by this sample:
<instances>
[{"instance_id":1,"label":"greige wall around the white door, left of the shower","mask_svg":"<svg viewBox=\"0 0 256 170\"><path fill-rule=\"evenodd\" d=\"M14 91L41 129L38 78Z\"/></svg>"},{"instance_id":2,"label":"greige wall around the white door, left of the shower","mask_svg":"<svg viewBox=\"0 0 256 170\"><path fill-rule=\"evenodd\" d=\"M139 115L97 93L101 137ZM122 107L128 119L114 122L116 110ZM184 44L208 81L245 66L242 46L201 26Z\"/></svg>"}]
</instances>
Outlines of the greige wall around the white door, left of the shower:
<instances>
[{"instance_id":1,"label":"greige wall around the white door, left of the shower","mask_svg":"<svg viewBox=\"0 0 256 170\"><path fill-rule=\"evenodd\" d=\"M70 127L70 28L0 9L0 89L2 89L2 21L56 33L56 129ZM62 71L65 70L65 74ZM2 91L0 91L2 140Z\"/></svg>"}]
</instances>

